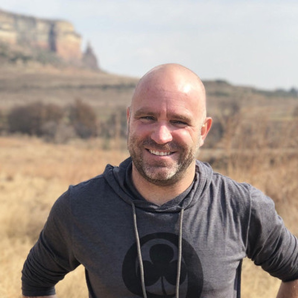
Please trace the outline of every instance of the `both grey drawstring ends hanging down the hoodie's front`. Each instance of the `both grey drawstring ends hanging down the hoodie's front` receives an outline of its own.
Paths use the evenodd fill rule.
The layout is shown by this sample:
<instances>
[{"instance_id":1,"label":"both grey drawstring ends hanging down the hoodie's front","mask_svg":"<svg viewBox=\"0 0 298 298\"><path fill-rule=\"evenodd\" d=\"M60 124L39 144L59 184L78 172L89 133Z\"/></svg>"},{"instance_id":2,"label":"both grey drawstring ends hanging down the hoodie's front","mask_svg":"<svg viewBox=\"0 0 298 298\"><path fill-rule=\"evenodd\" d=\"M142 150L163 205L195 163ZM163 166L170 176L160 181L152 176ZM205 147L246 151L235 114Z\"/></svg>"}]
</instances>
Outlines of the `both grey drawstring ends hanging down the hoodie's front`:
<instances>
[{"instance_id":1,"label":"both grey drawstring ends hanging down the hoodie's front","mask_svg":"<svg viewBox=\"0 0 298 298\"><path fill-rule=\"evenodd\" d=\"M134 233L135 233L136 243L137 243L137 252L138 252L138 260L139 260L139 264L140 264L140 274L141 274L141 284L142 284L143 298L147 298L146 287L145 287L145 277L144 277L144 266L143 266L143 259L142 259L141 245L140 245L140 237L139 237L138 226L137 226L136 207L133 204L133 202L132 202L131 205L132 205L132 209L133 209L133 228L134 228ZM181 273L181 262L182 262L183 212L184 212L184 209L181 209L180 214L179 214L179 239L178 239L176 298L179 298L179 284L180 284L180 273Z\"/></svg>"}]
</instances>

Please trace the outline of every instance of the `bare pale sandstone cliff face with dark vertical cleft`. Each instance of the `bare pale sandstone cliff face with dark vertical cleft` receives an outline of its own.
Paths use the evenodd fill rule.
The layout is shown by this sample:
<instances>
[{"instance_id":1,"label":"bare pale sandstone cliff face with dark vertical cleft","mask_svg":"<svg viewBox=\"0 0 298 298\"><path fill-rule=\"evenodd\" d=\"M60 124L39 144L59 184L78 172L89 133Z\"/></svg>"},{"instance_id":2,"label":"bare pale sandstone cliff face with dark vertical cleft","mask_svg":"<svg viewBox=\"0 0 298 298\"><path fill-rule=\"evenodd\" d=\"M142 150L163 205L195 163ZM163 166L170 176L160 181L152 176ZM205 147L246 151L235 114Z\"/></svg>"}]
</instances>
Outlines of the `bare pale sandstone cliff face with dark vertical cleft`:
<instances>
[{"instance_id":1,"label":"bare pale sandstone cliff face with dark vertical cleft","mask_svg":"<svg viewBox=\"0 0 298 298\"><path fill-rule=\"evenodd\" d=\"M70 22L40 19L3 10L0 10L0 42L26 50L52 52L64 61L77 65L84 64L86 55L90 55L90 47L86 53L82 53L81 36Z\"/></svg>"}]
</instances>

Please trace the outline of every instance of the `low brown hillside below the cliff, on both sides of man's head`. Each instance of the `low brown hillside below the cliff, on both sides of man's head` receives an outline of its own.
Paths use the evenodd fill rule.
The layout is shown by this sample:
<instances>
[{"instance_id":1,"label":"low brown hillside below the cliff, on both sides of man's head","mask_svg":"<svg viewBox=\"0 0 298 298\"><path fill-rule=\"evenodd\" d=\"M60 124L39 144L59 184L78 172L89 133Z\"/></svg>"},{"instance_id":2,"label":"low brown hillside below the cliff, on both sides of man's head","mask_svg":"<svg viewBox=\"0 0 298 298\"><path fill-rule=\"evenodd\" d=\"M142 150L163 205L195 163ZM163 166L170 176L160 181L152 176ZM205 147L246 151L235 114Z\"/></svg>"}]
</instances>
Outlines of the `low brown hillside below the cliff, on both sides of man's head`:
<instances>
[{"instance_id":1,"label":"low brown hillside below the cliff, on both sides of man's head","mask_svg":"<svg viewBox=\"0 0 298 298\"><path fill-rule=\"evenodd\" d=\"M65 105L81 98L94 106L127 106L138 78L50 63L3 63L0 65L0 107L34 101ZM210 114L228 113L233 105L270 110L286 116L298 106L295 90L264 91L233 86L223 80L204 81ZM269 111L268 110L268 111Z\"/></svg>"}]
</instances>

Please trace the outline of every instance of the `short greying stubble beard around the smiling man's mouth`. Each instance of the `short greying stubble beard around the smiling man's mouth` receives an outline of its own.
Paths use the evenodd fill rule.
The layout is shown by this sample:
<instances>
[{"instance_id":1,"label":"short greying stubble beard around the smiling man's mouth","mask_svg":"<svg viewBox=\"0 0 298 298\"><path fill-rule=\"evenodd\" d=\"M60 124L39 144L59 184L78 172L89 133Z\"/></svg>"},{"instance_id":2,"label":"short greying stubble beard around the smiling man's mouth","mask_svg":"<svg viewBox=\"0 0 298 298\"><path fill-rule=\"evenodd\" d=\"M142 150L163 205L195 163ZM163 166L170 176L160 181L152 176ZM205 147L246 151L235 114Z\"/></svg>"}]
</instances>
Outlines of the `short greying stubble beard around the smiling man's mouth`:
<instances>
[{"instance_id":1,"label":"short greying stubble beard around the smiling man's mouth","mask_svg":"<svg viewBox=\"0 0 298 298\"><path fill-rule=\"evenodd\" d=\"M181 153L178 160L161 160L158 163L147 162L143 157L143 150L147 147L156 151L178 151ZM194 162L198 148L199 142L196 147L183 146L177 142L160 145L150 138L140 142L138 138L128 136L128 150L134 166L143 178L159 186L173 185L180 180L188 167Z\"/></svg>"}]
</instances>

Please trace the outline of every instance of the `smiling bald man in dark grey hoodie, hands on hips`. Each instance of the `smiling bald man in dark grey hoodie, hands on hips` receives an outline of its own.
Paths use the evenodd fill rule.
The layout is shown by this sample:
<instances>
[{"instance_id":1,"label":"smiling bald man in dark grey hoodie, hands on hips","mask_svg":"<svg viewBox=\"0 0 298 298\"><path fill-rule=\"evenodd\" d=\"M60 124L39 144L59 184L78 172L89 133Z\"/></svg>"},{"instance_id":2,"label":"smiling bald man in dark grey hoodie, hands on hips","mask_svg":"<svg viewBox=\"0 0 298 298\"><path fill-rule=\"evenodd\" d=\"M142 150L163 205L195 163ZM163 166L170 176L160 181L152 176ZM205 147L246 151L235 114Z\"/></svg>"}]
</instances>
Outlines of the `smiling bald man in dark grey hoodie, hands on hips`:
<instances>
[{"instance_id":1,"label":"smiling bald man in dark grey hoodie, hands on hips","mask_svg":"<svg viewBox=\"0 0 298 298\"><path fill-rule=\"evenodd\" d=\"M247 255L282 279L279 298L297 298L297 239L272 200L195 158L212 123L201 80L154 68L127 118L131 157L56 201L24 264L24 297L56 297L79 264L93 298L240 297Z\"/></svg>"}]
</instances>

